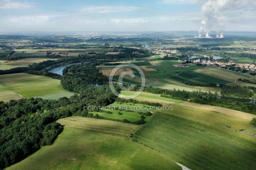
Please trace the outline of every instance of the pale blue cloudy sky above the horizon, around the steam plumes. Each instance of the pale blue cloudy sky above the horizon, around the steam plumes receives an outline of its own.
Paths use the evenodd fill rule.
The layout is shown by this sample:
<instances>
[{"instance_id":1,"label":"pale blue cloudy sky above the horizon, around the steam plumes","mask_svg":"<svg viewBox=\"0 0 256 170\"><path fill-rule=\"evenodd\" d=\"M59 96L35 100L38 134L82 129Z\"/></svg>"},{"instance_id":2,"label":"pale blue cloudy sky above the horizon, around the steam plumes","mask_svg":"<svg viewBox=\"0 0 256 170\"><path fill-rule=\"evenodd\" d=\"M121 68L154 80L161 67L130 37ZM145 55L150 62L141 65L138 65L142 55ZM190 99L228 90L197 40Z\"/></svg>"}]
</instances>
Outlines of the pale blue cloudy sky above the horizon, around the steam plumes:
<instances>
[{"instance_id":1,"label":"pale blue cloudy sky above the horizon, around the steam plumes","mask_svg":"<svg viewBox=\"0 0 256 170\"><path fill-rule=\"evenodd\" d=\"M0 31L198 31L209 12L256 31L256 0L0 0Z\"/></svg>"}]
</instances>

